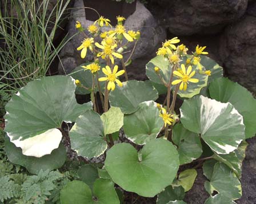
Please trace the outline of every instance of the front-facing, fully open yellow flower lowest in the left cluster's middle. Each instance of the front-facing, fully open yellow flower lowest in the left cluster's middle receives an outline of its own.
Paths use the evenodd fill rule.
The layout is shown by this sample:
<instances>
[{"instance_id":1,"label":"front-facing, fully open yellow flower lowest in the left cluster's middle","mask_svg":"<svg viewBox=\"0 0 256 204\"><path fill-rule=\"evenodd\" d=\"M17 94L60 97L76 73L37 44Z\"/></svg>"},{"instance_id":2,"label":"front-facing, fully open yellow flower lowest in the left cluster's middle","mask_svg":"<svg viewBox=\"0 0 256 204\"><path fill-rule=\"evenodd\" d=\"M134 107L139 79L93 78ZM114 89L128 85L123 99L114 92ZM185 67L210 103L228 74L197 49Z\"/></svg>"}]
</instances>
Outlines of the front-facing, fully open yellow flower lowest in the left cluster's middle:
<instances>
[{"instance_id":1,"label":"front-facing, fully open yellow flower lowest in the left cluster's middle","mask_svg":"<svg viewBox=\"0 0 256 204\"><path fill-rule=\"evenodd\" d=\"M125 73L125 70L118 71L118 66L115 65L113 72L111 72L111 69L109 66L106 66L106 68L102 68L102 72L106 75L106 77L99 78L99 81L109 81L107 84L107 90L114 91L115 89L115 83L119 85L119 87L122 87L123 84L121 81L117 79L118 76L121 76Z\"/></svg>"}]
</instances>

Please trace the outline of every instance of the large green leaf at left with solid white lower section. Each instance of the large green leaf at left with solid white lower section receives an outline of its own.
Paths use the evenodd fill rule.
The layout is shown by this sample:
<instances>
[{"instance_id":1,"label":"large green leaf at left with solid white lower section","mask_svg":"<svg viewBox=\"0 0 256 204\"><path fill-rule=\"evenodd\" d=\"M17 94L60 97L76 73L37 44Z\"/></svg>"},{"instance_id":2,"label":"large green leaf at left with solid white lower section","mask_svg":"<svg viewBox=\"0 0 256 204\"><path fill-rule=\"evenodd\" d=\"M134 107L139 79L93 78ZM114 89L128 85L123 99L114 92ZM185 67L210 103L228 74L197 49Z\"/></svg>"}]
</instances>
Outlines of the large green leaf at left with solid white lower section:
<instances>
[{"instance_id":1,"label":"large green leaf at left with solid white lower section","mask_svg":"<svg viewBox=\"0 0 256 204\"><path fill-rule=\"evenodd\" d=\"M49 76L29 82L6 105L5 132L26 156L42 157L58 148L63 121L75 121L91 103L75 100L70 76Z\"/></svg>"}]
</instances>

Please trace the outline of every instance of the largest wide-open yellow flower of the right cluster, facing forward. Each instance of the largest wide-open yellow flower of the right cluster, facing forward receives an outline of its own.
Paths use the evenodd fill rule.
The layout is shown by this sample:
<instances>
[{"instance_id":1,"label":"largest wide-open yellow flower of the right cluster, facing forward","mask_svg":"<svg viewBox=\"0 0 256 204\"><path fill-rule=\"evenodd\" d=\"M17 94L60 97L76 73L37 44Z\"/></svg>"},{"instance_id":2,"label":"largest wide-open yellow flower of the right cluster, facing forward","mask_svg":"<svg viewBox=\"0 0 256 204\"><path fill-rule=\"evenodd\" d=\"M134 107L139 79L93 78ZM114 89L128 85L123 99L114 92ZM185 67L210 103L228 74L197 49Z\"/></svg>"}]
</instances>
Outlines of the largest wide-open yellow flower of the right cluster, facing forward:
<instances>
[{"instance_id":1,"label":"largest wide-open yellow flower of the right cluster, facing forward","mask_svg":"<svg viewBox=\"0 0 256 204\"><path fill-rule=\"evenodd\" d=\"M179 77L179 79L174 80L171 84L176 85L176 84L181 83L179 85L179 90L186 91L187 84L189 82L198 83L199 80L198 79L191 79L191 77L193 77L195 75L195 71L191 72L192 71L192 67L191 66L189 66L187 68L187 71L186 71L185 65L181 64L181 70L182 70L182 73L178 72L178 71L173 71L173 74L175 76Z\"/></svg>"}]
</instances>

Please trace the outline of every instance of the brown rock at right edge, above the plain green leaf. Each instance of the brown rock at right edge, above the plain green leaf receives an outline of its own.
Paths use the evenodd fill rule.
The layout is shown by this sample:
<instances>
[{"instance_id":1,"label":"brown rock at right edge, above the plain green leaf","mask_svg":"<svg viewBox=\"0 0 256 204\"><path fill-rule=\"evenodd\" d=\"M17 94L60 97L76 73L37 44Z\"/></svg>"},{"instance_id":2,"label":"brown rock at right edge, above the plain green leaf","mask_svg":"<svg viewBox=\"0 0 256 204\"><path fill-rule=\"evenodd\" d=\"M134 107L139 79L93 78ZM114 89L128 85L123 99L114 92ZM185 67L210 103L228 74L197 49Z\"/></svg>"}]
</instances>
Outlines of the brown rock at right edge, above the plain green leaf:
<instances>
[{"instance_id":1,"label":"brown rock at right edge, above the plain green leaf","mask_svg":"<svg viewBox=\"0 0 256 204\"><path fill-rule=\"evenodd\" d=\"M219 52L227 76L256 93L256 17L246 15L228 26Z\"/></svg>"}]
</instances>

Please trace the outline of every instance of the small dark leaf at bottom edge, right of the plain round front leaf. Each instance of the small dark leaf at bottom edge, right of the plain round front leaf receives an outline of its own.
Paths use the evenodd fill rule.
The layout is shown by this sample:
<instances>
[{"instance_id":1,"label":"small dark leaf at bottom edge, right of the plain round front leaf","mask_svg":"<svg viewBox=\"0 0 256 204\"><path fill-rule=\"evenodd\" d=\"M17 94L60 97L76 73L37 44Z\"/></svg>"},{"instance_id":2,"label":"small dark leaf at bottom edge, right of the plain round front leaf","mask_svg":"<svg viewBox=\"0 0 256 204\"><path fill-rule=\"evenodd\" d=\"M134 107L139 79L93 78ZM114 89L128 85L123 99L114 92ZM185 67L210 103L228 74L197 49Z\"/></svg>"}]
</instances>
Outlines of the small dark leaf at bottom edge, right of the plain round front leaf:
<instances>
[{"instance_id":1,"label":"small dark leaf at bottom edge, right of the plain round front leaf","mask_svg":"<svg viewBox=\"0 0 256 204\"><path fill-rule=\"evenodd\" d=\"M169 201L181 201L185 197L182 186L167 186L165 190L157 195L157 204L166 204Z\"/></svg>"}]
</instances>

